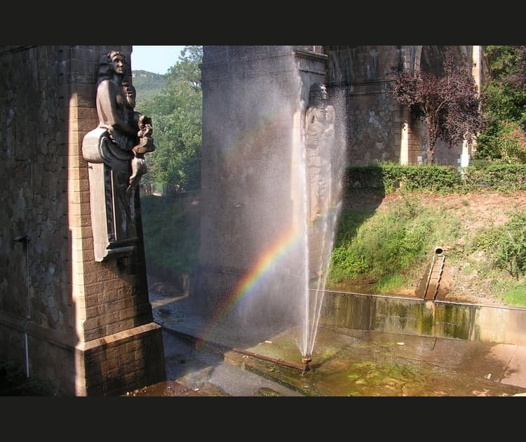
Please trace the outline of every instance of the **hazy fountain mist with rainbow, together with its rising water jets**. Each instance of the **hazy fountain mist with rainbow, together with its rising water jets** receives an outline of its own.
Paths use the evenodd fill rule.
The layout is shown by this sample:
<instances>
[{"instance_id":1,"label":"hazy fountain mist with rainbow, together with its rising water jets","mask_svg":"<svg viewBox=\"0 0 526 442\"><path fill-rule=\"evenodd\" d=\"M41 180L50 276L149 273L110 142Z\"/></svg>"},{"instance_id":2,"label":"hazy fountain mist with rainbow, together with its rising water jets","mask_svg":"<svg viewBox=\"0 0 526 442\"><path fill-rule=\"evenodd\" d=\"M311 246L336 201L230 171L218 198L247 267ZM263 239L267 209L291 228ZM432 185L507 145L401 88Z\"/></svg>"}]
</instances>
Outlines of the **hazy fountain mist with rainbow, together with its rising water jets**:
<instances>
[{"instance_id":1,"label":"hazy fountain mist with rainbow, together with its rising water jets","mask_svg":"<svg viewBox=\"0 0 526 442\"><path fill-rule=\"evenodd\" d=\"M330 97L335 142L330 167L316 180L325 193L314 220L304 121L309 74L292 46L239 51L250 51L253 61L229 65L227 81L203 96L210 110L200 265L210 271L194 299L212 312L204 337L223 328L232 340L259 340L293 328L299 352L309 357L341 207L344 100Z\"/></svg>"}]
</instances>

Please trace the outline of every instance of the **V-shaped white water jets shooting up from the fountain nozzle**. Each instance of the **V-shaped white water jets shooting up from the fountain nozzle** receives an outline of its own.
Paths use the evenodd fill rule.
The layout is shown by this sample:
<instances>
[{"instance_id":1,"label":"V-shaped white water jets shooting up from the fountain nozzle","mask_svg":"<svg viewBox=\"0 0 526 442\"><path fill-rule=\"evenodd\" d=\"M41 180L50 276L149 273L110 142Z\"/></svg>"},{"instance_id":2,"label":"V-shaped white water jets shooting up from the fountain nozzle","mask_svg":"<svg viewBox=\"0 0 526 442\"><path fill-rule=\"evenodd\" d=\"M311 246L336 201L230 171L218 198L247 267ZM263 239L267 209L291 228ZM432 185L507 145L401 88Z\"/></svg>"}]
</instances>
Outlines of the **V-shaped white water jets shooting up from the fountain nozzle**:
<instances>
[{"instance_id":1,"label":"V-shaped white water jets shooting up from the fountain nozzle","mask_svg":"<svg viewBox=\"0 0 526 442\"><path fill-rule=\"evenodd\" d=\"M316 94L318 96L316 96ZM321 99L319 95L322 95ZM320 104L323 103L323 104ZM336 114L343 113L343 100L329 102L325 85L311 86L309 108L299 101L299 109L305 109L302 126L302 216L304 217L304 321L299 350L304 361L311 361L318 323L320 320L325 284L330 269L330 257L335 241L337 219L342 207L342 179L344 170L343 125L336 131ZM320 121L314 136L315 142L307 141L309 130ZM309 127L307 127L309 126ZM323 135L323 134L325 135ZM326 135L329 134L329 135ZM325 141L323 139L325 138ZM311 136L312 140L312 136Z\"/></svg>"}]
</instances>

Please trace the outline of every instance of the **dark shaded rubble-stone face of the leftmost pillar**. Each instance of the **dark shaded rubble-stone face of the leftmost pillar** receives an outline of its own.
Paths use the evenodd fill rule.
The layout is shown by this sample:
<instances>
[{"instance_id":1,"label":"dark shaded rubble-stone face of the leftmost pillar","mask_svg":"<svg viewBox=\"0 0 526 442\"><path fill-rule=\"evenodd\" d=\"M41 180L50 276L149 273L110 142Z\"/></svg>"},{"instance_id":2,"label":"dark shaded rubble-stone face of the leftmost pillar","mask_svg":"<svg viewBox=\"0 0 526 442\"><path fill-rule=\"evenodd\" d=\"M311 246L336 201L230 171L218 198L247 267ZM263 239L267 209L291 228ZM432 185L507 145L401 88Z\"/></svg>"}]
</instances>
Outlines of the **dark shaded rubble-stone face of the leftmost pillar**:
<instances>
[{"instance_id":1,"label":"dark shaded rubble-stone face of the leftmost pillar","mask_svg":"<svg viewBox=\"0 0 526 442\"><path fill-rule=\"evenodd\" d=\"M28 365L30 375L51 374L64 389L72 383L72 359L65 356L69 362L55 373L47 363L62 359L64 348L76 342L69 295L72 245L65 241L70 236L68 67L67 46L0 49L0 158L7 171L0 188L1 354ZM28 241L13 241L25 235Z\"/></svg>"}]
</instances>

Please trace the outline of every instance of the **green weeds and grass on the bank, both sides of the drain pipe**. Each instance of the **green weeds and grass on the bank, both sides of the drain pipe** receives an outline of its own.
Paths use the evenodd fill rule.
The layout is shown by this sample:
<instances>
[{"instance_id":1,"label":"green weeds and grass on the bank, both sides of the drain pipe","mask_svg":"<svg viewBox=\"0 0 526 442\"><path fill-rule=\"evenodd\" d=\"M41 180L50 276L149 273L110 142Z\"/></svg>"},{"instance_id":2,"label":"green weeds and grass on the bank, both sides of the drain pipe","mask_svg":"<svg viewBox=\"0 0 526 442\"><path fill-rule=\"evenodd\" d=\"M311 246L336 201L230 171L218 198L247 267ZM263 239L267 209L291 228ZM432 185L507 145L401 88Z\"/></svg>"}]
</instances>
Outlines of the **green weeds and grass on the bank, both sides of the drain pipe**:
<instances>
[{"instance_id":1,"label":"green weeds and grass on the bank, both sides of the drain pipe","mask_svg":"<svg viewBox=\"0 0 526 442\"><path fill-rule=\"evenodd\" d=\"M426 194L420 194L425 198ZM328 288L391 294L415 288L437 244L465 243L448 250L448 262L462 263L476 283L490 286L505 304L526 307L526 213L515 211L501 227L483 227L472 235L461 229L451 210L425 208L413 195L400 206L372 213L342 213L332 254ZM359 223L359 222L358 222Z\"/></svg>"}]
</instances>

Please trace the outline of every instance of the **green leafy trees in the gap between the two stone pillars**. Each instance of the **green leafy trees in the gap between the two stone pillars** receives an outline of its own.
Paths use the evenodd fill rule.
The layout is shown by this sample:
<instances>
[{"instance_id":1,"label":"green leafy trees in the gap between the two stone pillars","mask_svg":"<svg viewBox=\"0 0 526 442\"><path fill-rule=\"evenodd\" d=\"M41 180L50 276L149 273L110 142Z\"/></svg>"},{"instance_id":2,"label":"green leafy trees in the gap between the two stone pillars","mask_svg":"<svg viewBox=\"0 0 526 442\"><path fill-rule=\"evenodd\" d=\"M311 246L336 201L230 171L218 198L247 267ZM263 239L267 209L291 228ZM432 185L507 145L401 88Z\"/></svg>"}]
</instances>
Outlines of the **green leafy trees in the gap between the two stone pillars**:
<instances>
[{"instance_id":1,"label":"green leafy trees in the gap between the two stone pillars","mask_svg":"<svg viewBox=\"0 0 526 442\"><path fill-rule=\"evenodd\" d=\"M154 122L156 149L147 156L143 182L187 190L201 185L202 46L186 46L165 75L166 88L137 103Z\"/></svg>"}]
</instances>

